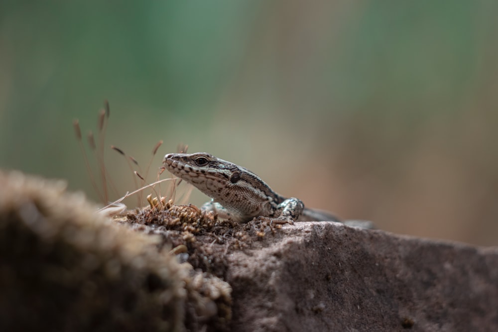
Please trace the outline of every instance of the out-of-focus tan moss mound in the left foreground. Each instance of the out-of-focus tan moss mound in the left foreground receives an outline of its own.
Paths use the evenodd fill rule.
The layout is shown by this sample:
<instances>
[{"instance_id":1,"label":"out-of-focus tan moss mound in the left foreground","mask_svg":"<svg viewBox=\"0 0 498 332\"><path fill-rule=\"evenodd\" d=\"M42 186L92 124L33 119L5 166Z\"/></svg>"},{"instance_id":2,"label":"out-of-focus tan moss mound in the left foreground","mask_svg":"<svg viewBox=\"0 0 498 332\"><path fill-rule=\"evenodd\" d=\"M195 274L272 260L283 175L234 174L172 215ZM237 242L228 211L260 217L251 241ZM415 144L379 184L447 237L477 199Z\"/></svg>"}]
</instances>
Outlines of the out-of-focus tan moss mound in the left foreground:
<instances>
[{"instance_id":1,"label":"out-of-focus tan moss mound in the left foreground","mask_svg":"<svg viewBox=\"0 0 498 332\"><path fill-rule=\"evenodd\" d=\"M0 173L1 331L181 331L185 280L158 237L94 211L62 182Z\"/></svg>"}]
</instances>

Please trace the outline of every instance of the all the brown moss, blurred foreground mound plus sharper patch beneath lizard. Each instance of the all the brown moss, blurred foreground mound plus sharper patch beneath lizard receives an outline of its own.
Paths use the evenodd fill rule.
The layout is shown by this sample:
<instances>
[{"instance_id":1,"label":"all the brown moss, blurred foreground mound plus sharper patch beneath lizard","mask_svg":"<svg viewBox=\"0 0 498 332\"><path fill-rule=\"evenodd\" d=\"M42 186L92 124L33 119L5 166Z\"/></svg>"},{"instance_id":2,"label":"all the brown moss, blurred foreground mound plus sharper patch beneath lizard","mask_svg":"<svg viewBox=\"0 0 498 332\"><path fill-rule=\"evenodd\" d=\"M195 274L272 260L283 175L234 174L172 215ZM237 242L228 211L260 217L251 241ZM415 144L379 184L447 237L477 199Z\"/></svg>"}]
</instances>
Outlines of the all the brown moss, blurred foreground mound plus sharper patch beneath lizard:
<instances>
[{"instance_id":1,"label":"all the brown moss, blurred foreground mound plus sharper patch beneath lizard","mask_svg":"<svg viewBox=\"0 0 498 332\"><path fill-rule=\"evenodd\" d=\"M170 203L109 219L65 187L0 171L1 331L227 331L227 254L280 227Z\"/></svg>"}]
</instances>

